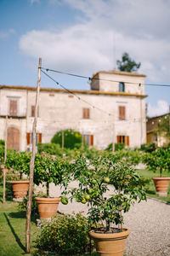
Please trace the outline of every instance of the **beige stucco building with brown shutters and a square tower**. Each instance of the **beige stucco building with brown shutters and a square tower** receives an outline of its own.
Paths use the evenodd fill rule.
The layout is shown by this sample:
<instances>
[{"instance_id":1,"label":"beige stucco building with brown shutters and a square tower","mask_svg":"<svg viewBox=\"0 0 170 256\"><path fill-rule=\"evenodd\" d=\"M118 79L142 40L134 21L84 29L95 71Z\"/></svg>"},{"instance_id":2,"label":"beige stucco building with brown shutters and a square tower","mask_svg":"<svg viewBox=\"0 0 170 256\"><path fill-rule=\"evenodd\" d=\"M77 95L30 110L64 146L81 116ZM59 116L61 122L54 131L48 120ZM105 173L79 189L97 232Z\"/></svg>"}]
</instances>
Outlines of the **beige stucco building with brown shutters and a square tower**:
<instances>
[{"instance_id":1,"label":"beige stucco building with brown shutters and a square tower","mask_svg":"<svg viewBox=\"0 0 170 256\"><path fill-rule=\"evenodd\" d=\"M80 131L88 144L106 148L125 143L139 148L146 143L144 75L120 71L95 73L91 90L41 88L37 142L49 143L56 131ZM8 148L31 147L36 88L0 85L0 139Z\"/></svg>"}]
</instances>

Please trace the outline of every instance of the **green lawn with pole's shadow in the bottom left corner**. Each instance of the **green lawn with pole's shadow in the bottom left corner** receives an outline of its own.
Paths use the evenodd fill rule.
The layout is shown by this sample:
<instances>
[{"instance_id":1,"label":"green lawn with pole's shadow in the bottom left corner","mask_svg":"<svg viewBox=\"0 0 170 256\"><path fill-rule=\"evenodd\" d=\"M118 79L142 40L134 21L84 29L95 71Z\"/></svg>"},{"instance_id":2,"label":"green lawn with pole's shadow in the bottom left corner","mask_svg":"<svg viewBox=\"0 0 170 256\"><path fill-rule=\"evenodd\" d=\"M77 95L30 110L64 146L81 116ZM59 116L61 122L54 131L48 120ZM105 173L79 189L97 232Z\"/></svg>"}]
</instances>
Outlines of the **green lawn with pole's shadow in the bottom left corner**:
<instances>
[{"instance_id":1,"label":"green lawn with pole's shadow in the bottom left corner","mask_svg":"<svg viewBox=\"0 0 170 256\"><path fill-rule=\"evenodd\" d=\"M1 197L2 198L2 197ZM26 212L18 212L18 203L0 202L0 255L20 256L26 250ZM31 252L37 227L31 223ZM29 255L29 254L28 254ZM30 254L32 255L32 254Z\"/></svg>"}]
</instances>

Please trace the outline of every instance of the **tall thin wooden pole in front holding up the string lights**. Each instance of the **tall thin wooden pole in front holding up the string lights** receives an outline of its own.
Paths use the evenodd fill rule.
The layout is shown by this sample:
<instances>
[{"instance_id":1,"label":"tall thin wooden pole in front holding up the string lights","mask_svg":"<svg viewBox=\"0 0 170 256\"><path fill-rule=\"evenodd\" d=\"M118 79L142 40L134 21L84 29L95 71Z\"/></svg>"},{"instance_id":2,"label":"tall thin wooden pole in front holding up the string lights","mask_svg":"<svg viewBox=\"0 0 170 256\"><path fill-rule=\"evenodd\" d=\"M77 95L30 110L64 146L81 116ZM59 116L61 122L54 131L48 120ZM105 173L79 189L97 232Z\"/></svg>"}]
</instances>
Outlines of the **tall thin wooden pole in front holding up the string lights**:
<instances>
[{"instance_id":1,"label":"tall thin wooden pole in front holding up the string lights","mask_svg":"<svg viewBox=\"0 0 170 256\"><path fill-rule=\"evenodd\" d=\"M37 106L39 102L41 66L42 66L42 59L39 58L35 118L32 126L33 141L32 141L31 162L30 162L30 183L29 183L28 202L27 202L27 211L26 211L26 253L30 253L30 241L31 241L31 201L32 201L33 175L34 175L34 160L35 160L35 154L36 154Z\"/></svg>"}]
</instances>

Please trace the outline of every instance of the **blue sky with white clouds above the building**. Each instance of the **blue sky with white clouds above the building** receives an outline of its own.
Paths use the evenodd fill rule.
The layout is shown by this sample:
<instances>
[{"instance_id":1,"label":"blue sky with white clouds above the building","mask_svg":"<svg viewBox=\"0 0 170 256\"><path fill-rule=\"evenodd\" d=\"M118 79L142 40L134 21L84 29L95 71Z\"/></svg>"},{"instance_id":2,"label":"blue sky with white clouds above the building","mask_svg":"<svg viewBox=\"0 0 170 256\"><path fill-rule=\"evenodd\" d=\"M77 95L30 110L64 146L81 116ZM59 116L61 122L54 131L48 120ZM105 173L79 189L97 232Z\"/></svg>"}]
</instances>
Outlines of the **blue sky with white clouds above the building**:
<instances>
[{"instance_id":1,"label":"blue sky with white clouds above the building","mask_svg":"<svg viewBox=\"0 0 170 256\"><path fill-rule=\"evenodd\" d=\"M42 67L92 77L127 52L147 84L170 85L168 0L0 0L0 84L37 85ZM49 73L68 89L88 79ZM43 73L42 87L56 88ZM148 115L167 113L170 86L145 85Z\"/></svg>"}]
</instances>

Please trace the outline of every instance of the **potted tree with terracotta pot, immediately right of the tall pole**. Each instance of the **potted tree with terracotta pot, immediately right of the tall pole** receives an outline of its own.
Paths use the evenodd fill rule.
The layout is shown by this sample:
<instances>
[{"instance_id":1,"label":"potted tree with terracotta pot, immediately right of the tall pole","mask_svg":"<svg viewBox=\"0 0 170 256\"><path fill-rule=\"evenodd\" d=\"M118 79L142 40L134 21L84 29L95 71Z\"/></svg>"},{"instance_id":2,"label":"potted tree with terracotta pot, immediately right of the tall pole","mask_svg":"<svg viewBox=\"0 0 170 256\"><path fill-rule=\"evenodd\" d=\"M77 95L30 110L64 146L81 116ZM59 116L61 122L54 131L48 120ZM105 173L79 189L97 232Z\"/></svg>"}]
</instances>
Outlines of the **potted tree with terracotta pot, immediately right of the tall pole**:
<instances>
[{"instance_id":1,"label":"potted tree with terracotta pot, immediately right of the tall pole","mask_svg":"<svg viewBox=\"0 0 170 256\"><path fill-rule=\"evenodd\" d=\"M64 182L65 161L49 154L36 154L34 165L34 183L46 184L47 196L35 197L40 218L51 218L57 212L60 198L49 196L49 183L59 185Z\"/></svg>"}]
</instances>

